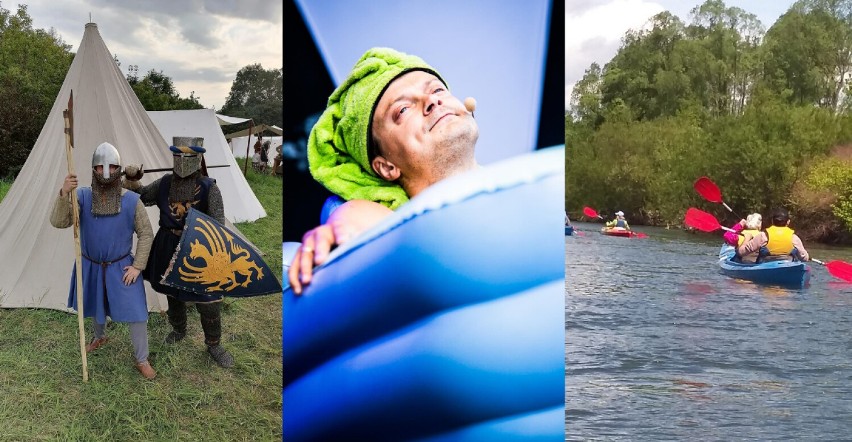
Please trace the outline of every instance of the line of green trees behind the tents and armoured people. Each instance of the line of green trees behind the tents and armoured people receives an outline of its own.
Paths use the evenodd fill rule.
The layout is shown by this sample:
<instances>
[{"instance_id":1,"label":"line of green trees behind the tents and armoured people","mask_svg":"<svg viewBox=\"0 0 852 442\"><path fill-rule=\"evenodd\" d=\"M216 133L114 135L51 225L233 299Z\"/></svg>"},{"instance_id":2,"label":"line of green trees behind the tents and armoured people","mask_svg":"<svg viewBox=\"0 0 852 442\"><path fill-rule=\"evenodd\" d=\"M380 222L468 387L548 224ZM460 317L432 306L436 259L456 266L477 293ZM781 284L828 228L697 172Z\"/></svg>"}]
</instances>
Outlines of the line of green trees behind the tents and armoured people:
<instances>
[{"instance_id":1,"label":"line of green trees behind the tents and armoured people","mask_svg":"<svg viewBox=\"0 0 852 442\"><path fill-rule=\"evenodd\" d=\"M12 12L0 3L0 178L14 178L23 167L73 60L71 45L54 29L33 28L26 5ZM118 57L115 62L121 66ZM138 69L129 66L126 78L145 110L204 107L195 92L181 97L163 71L151 69L139 78ZM217 112L281 127L282 78L282 69L264 69L260 64L243 67Z\"/></svg>"}]
</instances>

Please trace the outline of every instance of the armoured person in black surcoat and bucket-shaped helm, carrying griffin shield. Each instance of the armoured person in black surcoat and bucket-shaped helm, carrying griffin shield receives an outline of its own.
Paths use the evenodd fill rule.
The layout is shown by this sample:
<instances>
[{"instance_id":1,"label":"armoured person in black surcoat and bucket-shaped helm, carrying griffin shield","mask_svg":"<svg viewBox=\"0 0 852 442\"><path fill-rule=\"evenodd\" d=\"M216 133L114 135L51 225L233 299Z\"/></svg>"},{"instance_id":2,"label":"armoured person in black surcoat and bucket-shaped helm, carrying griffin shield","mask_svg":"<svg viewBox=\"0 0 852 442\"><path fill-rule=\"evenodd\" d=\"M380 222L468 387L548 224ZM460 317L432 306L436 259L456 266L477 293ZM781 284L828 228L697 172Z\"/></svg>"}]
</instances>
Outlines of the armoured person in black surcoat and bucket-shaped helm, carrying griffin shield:
<instances>
[{"instance_id":1,"label":"armoured person in black surcoat and bucket-shaped helm, carrying griffin shield","mask_svg":"<svg viewBox=\"0 0 852 442\"><path fill-rule=\"evenodd\" d=\"M204 175L201 170L204 139L174 137L172 141L174 173L143 187L138 182L141 170L135 166L127 167L125 187L139 192L146 206L156 205L160 209L160 228L154 237L151 257L143 275L154 290L168 298L172 331L166 336L166 343L174 344L186 336L186 303L195 303L201 317L207 352L217 364L229 368L234 365L234 358L221 344L222 294L200 295L160 283L180 242L190 207L225 224L225 208L216 180Z\"/></svg>"}]
</instances>

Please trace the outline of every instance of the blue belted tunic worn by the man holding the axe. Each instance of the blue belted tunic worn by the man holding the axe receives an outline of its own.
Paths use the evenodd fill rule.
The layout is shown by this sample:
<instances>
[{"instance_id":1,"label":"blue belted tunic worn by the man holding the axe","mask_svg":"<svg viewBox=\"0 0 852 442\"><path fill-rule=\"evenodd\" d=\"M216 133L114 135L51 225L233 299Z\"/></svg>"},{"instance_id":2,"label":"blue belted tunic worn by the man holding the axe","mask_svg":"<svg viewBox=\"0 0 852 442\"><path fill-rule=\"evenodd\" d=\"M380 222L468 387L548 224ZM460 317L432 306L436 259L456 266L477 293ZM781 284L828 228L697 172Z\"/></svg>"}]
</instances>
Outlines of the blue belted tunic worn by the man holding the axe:
<instances>
[{"instance_id":1,"label":"blue belted tunic worn by the man holding the axe","mask_svg":"<svg viewBox=\"0 0 852 442\"><path fill-rule=\"evenodd\" d=\"M118 322L148 319L142 278L125 286L124 267L133 264L134 219L139 194L121 196L121 212L111 216L92 215L92 189L77 190L80 201L80 244L83 250L83 313L105 324L106 317ZM76 264L71 270L68 307L77 308Z\"/></svg>"}]
</instances>

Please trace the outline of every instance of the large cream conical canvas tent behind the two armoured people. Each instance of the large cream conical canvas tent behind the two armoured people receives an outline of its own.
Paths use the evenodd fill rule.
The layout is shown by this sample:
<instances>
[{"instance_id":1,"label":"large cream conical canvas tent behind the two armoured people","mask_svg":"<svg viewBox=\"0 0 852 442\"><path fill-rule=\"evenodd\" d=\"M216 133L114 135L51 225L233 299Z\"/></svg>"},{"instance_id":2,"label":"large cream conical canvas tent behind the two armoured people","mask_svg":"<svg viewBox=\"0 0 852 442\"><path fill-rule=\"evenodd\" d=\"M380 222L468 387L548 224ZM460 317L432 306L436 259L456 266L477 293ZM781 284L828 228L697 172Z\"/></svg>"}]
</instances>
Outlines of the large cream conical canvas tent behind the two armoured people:
<instances>
[{"instance_id":1,"label":"large cream conical canvas tent behind the two armoured people","mask_svg":"<svg viewBox=\"0 0 852 442\"><path fill-rule=\"evenodd\" d=\"M67 310L74 263L71 229L50 225L50 211L67 174L62 111L74 91L74 166L80 186L92 181L92 154L102 142L118 148L123 164L172 164L163 137L151 122L98 33L86 24L83 41L47 122L0 203L0 307ZM160 174L143 178L153 182ZM158 215L148 208L156 230ZM145 283L149 310L167 304Z\"/></svg>"}]
</instances>

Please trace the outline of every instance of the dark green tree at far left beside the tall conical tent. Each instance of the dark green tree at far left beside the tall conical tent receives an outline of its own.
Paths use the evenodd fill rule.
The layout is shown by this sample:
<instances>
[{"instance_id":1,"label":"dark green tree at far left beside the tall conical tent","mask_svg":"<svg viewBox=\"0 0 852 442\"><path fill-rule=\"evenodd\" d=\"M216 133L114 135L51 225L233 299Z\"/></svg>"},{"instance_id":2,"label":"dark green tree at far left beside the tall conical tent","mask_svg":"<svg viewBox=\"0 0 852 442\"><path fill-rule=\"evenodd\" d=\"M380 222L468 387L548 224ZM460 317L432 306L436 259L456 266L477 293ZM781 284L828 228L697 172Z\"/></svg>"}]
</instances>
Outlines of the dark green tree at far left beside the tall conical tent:
<instances>
[{"instance_id":1,"label":"dark green tree at far left beside the tall conical tent","mask_svg":"<svg viewBox=\"0 0 852 442\"><path fill-rule=\"evenodd\" d=\"M0 6L0 177L18 173L74 56L53 29L33 29L26 5Z\"/></svg>"}]
</instances>

